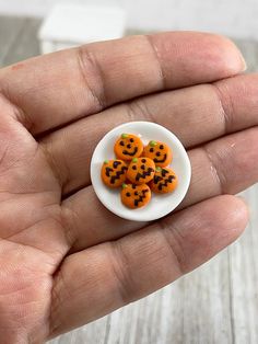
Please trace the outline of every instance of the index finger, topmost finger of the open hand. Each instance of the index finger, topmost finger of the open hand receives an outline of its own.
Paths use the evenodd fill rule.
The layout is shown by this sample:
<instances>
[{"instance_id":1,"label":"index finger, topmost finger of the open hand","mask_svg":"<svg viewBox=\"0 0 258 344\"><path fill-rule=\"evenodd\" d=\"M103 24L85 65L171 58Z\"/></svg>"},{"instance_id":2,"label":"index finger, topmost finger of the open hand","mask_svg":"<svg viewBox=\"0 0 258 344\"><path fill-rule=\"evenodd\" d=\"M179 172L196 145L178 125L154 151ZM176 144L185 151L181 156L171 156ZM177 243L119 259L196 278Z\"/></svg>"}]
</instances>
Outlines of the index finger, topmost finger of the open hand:
<instances>
[{"instance_id":1,"label":"index finger, topmost finger of the open hand","mask_svg":"<svg viewBox=\"0 0 258 344\"><path fill-rule=\"evenodd\" d=\"M94 43L0 71L0 92L34 135L139 95L211 82L244 70L221 36L174 32Z\"/></svg>"}]
</instances>

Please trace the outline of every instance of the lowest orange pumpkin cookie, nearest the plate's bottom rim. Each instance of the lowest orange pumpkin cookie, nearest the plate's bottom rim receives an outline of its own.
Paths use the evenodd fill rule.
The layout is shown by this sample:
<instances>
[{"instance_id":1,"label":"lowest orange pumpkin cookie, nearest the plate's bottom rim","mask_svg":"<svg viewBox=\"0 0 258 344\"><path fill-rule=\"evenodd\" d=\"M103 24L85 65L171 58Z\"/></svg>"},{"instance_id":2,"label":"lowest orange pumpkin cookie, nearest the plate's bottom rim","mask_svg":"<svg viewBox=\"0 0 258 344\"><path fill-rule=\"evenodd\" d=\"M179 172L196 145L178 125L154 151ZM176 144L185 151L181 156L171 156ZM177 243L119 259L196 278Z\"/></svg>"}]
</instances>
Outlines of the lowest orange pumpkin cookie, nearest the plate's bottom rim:
<instances>
[{"instance_id":1,"label":"lowest orange pumpkin cookie, nearest the plate's bottom rim","mask_svg":"<svg viewBox=\"0 0 258 344\"><path fill-rule=\"evenodd\" d=\"M122 184L121 203L131 209L141 208L151 200L151 190L146 184Z\"/></svg>"}]
</instances>

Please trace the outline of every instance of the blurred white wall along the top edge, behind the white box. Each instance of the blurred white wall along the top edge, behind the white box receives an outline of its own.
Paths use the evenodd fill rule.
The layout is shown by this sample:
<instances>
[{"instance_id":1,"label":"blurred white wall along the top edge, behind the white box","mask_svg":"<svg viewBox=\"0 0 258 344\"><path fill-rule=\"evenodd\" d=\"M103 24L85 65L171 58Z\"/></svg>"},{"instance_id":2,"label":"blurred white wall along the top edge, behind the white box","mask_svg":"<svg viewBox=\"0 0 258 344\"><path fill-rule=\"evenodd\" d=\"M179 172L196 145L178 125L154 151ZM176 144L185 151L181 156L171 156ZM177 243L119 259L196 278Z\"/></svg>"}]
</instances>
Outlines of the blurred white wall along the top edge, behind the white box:
<instances>
[{"instance_id":1,"label":"blurred white wall along the top edge, behind the white box","mask_svg":"<svg viewBox=\"0 0 258 344\"><path fill-rule=\"evenodd\" d=\"M0 0L0 11L9 14L48 13L58 0ZM72 4L115 5L126 10L128 28L204 30L238 38L258 37L257 0L63 0Z\"/></svg>"}]
</instances>

